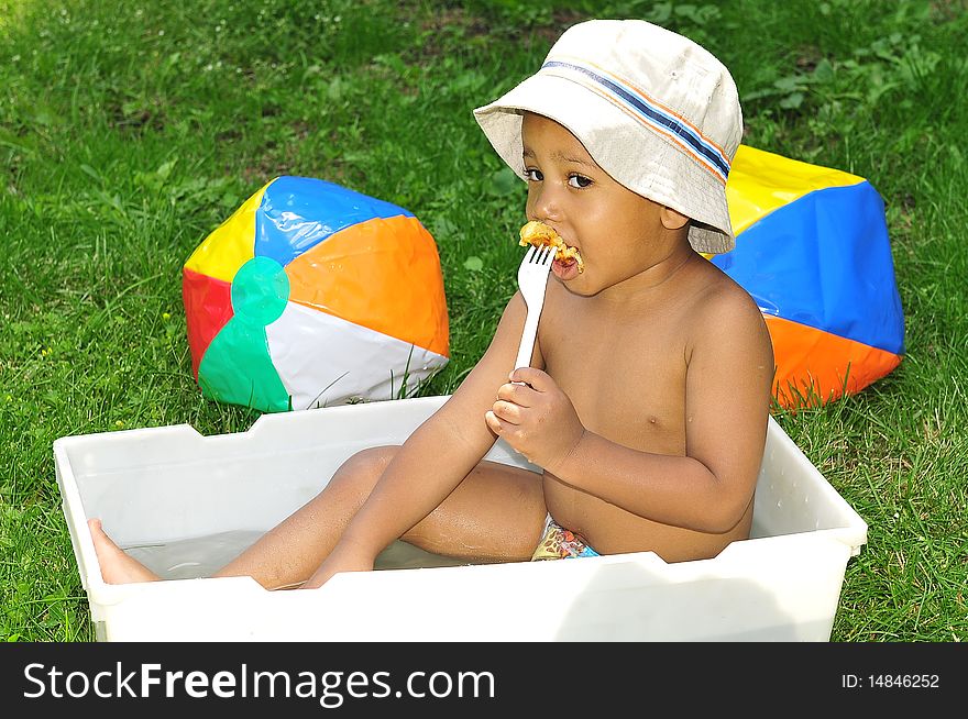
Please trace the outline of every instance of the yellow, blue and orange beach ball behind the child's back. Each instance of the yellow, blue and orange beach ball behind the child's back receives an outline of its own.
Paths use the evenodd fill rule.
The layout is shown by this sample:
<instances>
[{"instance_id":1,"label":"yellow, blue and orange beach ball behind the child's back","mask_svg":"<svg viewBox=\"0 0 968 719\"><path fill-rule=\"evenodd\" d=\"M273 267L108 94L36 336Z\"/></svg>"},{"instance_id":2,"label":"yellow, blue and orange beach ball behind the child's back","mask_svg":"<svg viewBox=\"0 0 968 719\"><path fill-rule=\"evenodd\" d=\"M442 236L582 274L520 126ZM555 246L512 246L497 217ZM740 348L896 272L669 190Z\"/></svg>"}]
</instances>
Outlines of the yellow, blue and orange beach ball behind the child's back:
<instances>
[{"instance_id":1,"label":"yellow, blue and orange beach ball behind the child's back","mask_svg":"<svg viewBox=\"0 0 968 719\"><path fill-rule=\"evenodd\" d=\"M870 182L740 145L726 197L736 247L711 259L766 318L778 402L822 405L892 372L904 316Z\"/></svg>"}]
</instances>

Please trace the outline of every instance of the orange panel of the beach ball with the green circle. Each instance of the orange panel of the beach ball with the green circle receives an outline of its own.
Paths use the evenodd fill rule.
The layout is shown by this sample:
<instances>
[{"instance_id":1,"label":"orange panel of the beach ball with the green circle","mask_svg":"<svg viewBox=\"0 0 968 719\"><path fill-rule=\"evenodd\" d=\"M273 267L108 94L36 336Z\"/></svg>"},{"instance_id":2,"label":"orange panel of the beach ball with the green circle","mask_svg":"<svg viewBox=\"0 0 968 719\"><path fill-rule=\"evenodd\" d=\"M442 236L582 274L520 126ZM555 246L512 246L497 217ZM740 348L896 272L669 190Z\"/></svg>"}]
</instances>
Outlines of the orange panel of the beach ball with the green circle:
<instances>
[{"instance_id":1,"label":"orange panel of the beach ball with the green circle","mask_svg":"<svg viewBox=\"0 0 968 719\"><path fill-rule=\"evenodd\" d=\"M450 356L440 258L417 218L351 225L299 255L286 274L289 301Z\"/></svg>"}]
</instances>

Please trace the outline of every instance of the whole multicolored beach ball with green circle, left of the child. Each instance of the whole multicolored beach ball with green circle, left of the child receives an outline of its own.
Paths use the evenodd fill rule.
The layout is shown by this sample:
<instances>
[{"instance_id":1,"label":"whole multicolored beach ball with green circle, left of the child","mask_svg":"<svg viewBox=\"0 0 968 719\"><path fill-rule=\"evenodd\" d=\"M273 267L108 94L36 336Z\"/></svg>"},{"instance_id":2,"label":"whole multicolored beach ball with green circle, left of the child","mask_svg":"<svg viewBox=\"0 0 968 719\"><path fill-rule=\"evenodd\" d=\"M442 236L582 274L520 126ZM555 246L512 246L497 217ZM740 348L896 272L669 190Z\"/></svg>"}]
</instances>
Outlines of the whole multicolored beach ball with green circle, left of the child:
<instances>
[{"instance_id":1,"label":"whole multicolored beach ball with green circle, left of the child","mask_svg":"<svg viewBox=\"0 0 968 719\"><path fill-rule=\"evenodd\" d=\"M410 396L449 361L437 244L407 210L273 179L183 268L191 366L211 399L266 412Z\"/></svg>"}]
</instances>

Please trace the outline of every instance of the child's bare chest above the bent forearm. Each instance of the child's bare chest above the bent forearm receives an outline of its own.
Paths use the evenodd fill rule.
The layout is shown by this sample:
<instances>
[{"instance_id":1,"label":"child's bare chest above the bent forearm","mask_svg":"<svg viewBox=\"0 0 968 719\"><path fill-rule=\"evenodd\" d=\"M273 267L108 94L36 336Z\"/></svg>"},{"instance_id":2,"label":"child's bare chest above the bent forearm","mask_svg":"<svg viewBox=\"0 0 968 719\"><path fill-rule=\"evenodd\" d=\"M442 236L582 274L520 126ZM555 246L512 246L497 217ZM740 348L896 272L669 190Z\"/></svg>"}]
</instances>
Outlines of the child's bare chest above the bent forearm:
<instances>
[{"instance_id":1,"label":"child's bare chest above the bent forearm","mask_svg":"<svg viewBox=\"0 0 968 719\"><path fill-rule=\"evenodd\" d=\"M552 307L538 339L544 370L587 429L644 451L684 452L688 335L678 322L644 316L610 323Z\"/></svg>"}]
</instances>

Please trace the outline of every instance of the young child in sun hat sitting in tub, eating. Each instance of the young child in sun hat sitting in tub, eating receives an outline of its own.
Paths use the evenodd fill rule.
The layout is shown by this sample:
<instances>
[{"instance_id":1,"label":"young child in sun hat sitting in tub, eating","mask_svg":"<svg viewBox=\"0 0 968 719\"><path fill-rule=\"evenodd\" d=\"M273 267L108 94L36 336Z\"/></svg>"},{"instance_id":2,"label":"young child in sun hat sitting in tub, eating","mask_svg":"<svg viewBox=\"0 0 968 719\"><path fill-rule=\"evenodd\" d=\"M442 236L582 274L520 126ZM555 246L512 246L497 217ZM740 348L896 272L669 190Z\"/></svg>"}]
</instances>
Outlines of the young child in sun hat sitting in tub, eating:
<instances>
[{"instance_id":1,"label":"young child in sun hat sitting in tub, eating","mask_svg":"<svg viewBox=\"0 0 968 719\"><path fill-rule=\"evenodd\" d=\"M217 576L318 587L372 569L396 539L472 562L679 562L748 538L772 347L750 296L701 254L734 245L725 185L743 119L728 70L662 27L592 20L475 117L527 180L527 219L584 262L554 263L531 366L513 366L518 292L402 446L352 456ZM543 473L484 461L497 438ZM106 582L157 578L90 530Z\"/></svg>"}]
</instances>

